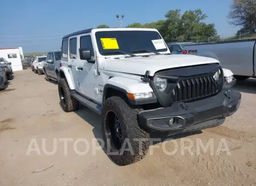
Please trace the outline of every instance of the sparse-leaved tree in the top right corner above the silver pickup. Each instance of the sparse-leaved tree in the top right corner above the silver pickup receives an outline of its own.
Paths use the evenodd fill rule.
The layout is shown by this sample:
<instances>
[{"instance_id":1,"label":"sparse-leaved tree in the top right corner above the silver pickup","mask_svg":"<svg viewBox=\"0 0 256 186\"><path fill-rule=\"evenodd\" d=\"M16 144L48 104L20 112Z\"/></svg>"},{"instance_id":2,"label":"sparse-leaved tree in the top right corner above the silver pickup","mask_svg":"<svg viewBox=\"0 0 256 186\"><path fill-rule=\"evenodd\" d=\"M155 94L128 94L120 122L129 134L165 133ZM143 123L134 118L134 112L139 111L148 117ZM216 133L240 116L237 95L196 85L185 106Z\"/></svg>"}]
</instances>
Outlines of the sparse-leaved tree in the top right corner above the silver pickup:
<instances>
[{"instance_id":1,"label":"sparse-leaved tree in the top right corner above the silver pickup","mask_svg":"<svg viewBox=\"0 0 256 186\"><path fill-rule=\"evenodd\" d=\"M242 27L237 35L256 32L256 1L233 0L228 18L230 24Z\"/></svg>"}]
</instances>

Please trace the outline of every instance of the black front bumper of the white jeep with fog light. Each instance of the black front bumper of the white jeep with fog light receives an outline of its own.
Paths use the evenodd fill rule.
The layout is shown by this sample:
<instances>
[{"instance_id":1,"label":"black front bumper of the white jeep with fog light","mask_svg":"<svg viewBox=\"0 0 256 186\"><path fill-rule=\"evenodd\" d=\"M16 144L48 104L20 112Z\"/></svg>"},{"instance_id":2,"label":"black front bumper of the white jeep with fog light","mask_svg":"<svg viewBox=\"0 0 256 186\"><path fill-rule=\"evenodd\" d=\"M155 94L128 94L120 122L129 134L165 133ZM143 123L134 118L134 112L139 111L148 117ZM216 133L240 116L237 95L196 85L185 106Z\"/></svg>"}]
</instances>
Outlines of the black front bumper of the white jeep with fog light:
<instances>
[{"instance_id":1,"label":"black front bumper of the white jeep with fog light","mask_svg":"<svg viewBox=\"0 0 256 186\"><path fill-rule=\"evenodd\" d=\"M187 129L199 130L208 126L221 125L225 117L235 113L240 106L241 93L233 90L222 90L216 96L204 100L177 102L168 108L144 110L139 113L139 125L152 131L172 131L181 133ZM170 123L173 118L174 122ZM204 126L205 125L205 126Z\"/></svg>"}]
</instances>

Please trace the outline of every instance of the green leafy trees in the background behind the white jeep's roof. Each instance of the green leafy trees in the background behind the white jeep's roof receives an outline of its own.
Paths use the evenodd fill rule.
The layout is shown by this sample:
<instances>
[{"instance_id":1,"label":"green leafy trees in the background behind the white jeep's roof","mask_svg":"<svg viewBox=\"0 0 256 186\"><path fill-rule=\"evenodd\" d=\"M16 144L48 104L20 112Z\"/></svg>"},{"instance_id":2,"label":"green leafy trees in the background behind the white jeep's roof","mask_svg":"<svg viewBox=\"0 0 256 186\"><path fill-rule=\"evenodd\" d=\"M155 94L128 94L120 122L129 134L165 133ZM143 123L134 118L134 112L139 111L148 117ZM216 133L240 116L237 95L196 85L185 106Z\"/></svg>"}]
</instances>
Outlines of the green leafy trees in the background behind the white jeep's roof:
<instances>
[{"instance_id":1,"label":"green leafy trees in the background behind the white jeep's roof","mask_svg":"<svg viewBox=\"0 0 256 186\"><path fill-rule=\"evenodd\" d=\"M184 14L181 14L181 10L179 9L170 10L164 16L166 18L164 20L146 24L137 22L128 24L126 27L155 28L160 32L166 42L207 41L219 39L214 24L203 22L207 18L207 15L203 14L200 9L187 10Z\"/></svg>"}]
</instances>

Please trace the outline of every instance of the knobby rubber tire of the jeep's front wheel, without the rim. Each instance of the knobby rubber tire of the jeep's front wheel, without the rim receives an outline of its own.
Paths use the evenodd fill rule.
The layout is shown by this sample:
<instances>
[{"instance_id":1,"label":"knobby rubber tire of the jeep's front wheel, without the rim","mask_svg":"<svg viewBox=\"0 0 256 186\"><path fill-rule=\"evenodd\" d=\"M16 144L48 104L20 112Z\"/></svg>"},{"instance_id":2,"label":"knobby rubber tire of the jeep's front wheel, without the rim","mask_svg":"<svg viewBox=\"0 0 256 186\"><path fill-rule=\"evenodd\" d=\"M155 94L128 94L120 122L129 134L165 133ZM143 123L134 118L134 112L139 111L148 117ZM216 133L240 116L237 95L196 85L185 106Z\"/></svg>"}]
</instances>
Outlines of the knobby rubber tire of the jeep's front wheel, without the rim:
<instances>
[{"instance_id":1,"label":"knobby rubber tire of the jeep's front wheel, without the rim","mask_svg":"<svg viewBox=\"0 0 256 186\"><path fill-rule=\"evenodd\" d=\"M106 114L109 110L114 111L114 113L119 118L119 122L121 123L122 138L123 140L129 140L134 153L131 153L130 151L124 151L123 154L120 154L121 150L112 148L106 139ZM105 151L118 152L118 155L109 154L108 156L115 164L119 166L126 166L143 159L144 156L146 156L150 146L150 135L146 131L142 130L141 127L139 127L139 111L139 109L133 109L127 105L121 97L116 96L108 98L102 107L101 132L105 142ZM125 148L129 148L127 143Z\"/></svg>"}]
</instances>

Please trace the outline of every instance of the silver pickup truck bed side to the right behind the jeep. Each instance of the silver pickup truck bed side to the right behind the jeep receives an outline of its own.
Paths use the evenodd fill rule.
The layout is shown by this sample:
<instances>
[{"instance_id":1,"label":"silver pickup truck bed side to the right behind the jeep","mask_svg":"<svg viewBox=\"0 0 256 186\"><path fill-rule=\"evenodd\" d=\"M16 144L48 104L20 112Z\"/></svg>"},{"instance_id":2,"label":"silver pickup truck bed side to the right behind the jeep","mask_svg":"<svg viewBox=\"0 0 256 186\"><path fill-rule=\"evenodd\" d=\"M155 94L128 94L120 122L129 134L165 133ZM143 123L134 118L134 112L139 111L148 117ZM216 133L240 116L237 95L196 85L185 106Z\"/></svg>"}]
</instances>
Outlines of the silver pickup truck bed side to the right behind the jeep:
<instances>
[{"instance_id":1,"label":"silver pickup truck bed side to the right behind the jeep","mask_svg":"<svg viewBox=\"0 0 256 186\"><path fill-rule=\"evenodd\" d=\"M222 68L230 69L237 80L255 78L256 39L229 42L181 44L183 54L212 57Z\"/></svg>"}]
</instances>

